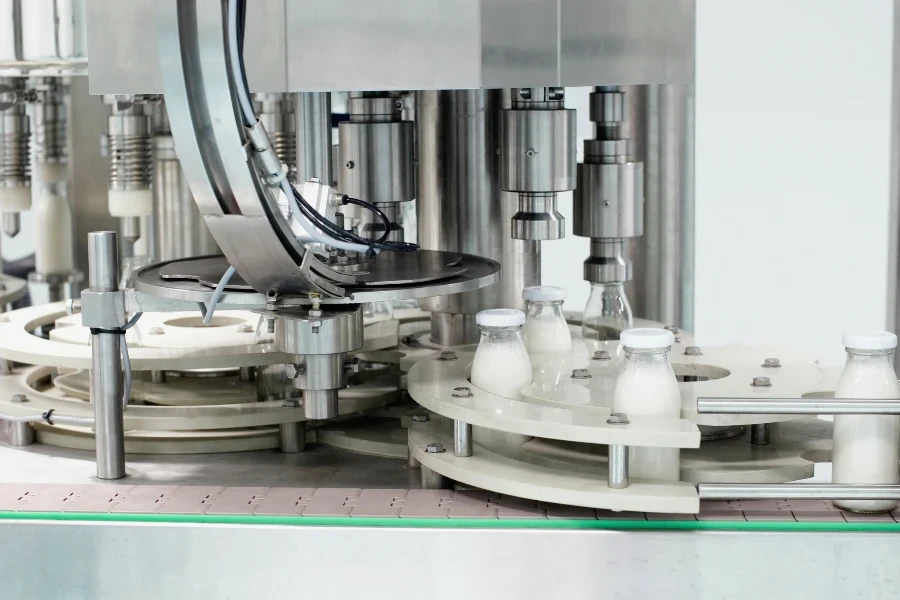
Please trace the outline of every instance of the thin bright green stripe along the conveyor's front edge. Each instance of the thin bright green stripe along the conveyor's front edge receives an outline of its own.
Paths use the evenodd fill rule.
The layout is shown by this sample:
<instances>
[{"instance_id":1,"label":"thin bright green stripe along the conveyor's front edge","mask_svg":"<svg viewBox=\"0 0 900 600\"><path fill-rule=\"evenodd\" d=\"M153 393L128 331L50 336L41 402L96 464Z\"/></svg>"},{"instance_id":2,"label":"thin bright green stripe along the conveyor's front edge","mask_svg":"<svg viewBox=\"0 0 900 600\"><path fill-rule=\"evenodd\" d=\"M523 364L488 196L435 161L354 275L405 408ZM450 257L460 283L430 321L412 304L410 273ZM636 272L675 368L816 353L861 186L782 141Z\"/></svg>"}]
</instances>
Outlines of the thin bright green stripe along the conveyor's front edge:
<instances>
[{"instance_id":1,"label":"thin bright green stripe along the conveyor's front edge","mask_svg":"<svg viewBox=\"0 0 900 600\"><path fill-rule=\"evenodd\" d=\"M862 531L900 532L900 523L831 521L638 521L588 519L433 519L382 517L293 517L246 515L159 515L0 511L0 521L80 521L94 523L213 523L312 527L408 529L577 529L612 531Z\"/></svg>"}]
</instances>

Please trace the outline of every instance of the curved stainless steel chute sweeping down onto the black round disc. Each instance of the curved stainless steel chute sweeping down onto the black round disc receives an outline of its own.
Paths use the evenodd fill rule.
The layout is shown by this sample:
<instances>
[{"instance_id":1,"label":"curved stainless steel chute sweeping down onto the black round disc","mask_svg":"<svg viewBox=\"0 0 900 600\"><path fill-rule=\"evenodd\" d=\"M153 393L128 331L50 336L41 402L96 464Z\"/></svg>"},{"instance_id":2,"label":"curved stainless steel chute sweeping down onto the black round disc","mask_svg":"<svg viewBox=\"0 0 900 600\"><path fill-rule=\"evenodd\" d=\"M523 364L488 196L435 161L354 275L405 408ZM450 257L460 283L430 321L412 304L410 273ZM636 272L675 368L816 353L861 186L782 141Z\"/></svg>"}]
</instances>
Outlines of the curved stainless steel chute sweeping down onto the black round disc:
<instances>
[{"instance_id":1,"label":"curved stainless steel chute sweeping down onto the black round disc","mask_svg":"<svg viewBox=\"0 0 900 600\"><path fill-rule=\"evenodd\" d=\"M342 277L307 256L262 181L257 161L248 161L247 129L236 112L226 64L226 6L216 0L165 0L154 7L158 58L178 156L194 199L229 263L254 289L265 293L318 288L340 295L329 281L352 277ZM251 154L259 153L251 148Z\"/></svg>"}]
</instances>

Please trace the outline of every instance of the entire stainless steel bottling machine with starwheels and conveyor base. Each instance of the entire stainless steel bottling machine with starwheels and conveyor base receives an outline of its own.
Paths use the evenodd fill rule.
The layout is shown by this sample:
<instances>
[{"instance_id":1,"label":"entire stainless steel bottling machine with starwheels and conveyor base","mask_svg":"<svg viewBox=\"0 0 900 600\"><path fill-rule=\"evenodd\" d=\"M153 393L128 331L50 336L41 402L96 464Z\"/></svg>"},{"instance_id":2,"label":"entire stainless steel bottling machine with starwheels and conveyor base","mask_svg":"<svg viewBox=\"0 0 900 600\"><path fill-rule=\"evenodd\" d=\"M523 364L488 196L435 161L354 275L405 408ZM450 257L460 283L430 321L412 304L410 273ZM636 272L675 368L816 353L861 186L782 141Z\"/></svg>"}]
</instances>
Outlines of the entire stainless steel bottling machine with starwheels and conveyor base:
<instances>
[{"instance_id":1,"label":"entire stainless steel bottling machine with starwheels and conveyor base","mask_svg":"<svg viewBox=\"0 0 900 600\"><path fill-rule=\"evenodd\" d=\"M831 501L900 486L798 480L817 415L900 400L690 334L694 39L694 0L0 0L5 597L887 595L898 521ZM566 192L597 296L488 392L476 314ZM677 418L612 410L632 308Z\"/></svg>"}]
</instances>

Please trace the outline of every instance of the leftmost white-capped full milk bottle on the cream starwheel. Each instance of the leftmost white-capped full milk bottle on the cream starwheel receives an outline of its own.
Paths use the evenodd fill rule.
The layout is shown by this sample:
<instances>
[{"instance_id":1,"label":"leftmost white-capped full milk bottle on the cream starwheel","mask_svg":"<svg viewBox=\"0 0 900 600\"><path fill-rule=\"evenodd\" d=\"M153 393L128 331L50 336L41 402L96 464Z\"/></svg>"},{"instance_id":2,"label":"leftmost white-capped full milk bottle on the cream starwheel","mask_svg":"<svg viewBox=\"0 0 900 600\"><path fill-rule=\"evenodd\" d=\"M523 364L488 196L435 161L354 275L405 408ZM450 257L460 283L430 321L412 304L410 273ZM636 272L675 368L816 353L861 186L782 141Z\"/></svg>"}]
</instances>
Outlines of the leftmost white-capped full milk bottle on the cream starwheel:
<instances>
[{"instance_id":1,"label":"leftmost white-capped full milk bottle on the cream starwheel","mask_svg":"<svg viewBox=\"0 0 900 600\"><path fill-rule=\"evenodd\" d=\"M525 313L509 308L483 310L475 315L481 340L472 361L472 384L486 392L514 400L531 383L531 360L522 341Z\"/></svg>"}]
</instances>

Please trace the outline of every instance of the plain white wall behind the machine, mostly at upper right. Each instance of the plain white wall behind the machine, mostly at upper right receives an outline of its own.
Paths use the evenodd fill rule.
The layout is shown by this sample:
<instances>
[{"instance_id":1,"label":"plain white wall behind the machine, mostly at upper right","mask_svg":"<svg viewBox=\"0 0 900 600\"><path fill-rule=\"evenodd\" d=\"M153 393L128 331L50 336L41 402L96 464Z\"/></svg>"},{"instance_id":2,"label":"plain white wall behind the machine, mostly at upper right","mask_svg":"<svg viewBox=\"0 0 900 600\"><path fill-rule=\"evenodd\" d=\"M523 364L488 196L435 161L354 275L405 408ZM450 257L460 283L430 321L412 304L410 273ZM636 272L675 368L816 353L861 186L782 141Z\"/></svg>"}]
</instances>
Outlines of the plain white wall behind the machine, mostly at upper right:
<instances>
[{"instance_id":1,"label":"plain white wall behind the machine, mostly at upper right","mask_svg":"<svg viewBox=\"0 0 900 600\"><path fill-rule=\"evenodd\" d=\"M698 0L700 343L839 357L842 332L885 327L892 27L891 0ZM586 240L543 251L580 310Z\"/></svg>"}]
</instances>

